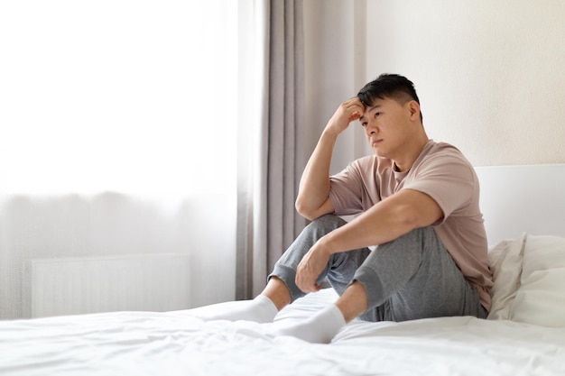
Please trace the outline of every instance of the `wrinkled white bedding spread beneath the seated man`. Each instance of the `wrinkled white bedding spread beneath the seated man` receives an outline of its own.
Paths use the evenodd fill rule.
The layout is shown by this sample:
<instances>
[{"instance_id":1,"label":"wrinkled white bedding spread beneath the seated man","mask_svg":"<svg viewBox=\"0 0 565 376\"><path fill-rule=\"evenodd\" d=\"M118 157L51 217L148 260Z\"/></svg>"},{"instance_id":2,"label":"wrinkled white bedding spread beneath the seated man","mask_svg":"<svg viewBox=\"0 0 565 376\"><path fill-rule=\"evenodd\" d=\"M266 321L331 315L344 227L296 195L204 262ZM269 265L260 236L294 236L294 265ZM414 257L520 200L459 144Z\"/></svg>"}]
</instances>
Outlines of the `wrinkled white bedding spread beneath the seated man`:
<instances>
[{"instance_id":1,"label":"wrinkled white bedding spread beneath the seated man","mask_svg":"<svg viewBox=\"0 0 565 376\"><path fill-rule=\"evenodd\" d=\"M336 298L325 289L282 310L275 323L116 312L0 322L0 375L563 375L565 328L443 317L354 321L332 344L266 335Z\"/></svg>"}]
</instances>

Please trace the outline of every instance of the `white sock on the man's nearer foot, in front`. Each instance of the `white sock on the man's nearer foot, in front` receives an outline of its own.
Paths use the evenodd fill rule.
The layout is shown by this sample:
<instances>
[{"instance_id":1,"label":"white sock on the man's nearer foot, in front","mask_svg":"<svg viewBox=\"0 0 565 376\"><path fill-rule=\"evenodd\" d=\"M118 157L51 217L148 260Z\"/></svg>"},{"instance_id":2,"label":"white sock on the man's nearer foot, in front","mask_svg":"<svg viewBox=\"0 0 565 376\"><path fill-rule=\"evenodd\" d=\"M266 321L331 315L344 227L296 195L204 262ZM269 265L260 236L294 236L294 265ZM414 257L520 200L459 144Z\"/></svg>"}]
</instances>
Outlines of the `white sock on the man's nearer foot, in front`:
<instances>
[{"instance_id":1,"label":"white sock on the man's nearer foot, in front","mask_svg":"<svg viewBox=\"0 0 565 376\"><path fill-rule=\"evenodd\" d=\"M298 324L273 329L272 335L292 335L313 344L329 344L346 325L343 314L335 304Z\"/></svg>"}]
</instances>

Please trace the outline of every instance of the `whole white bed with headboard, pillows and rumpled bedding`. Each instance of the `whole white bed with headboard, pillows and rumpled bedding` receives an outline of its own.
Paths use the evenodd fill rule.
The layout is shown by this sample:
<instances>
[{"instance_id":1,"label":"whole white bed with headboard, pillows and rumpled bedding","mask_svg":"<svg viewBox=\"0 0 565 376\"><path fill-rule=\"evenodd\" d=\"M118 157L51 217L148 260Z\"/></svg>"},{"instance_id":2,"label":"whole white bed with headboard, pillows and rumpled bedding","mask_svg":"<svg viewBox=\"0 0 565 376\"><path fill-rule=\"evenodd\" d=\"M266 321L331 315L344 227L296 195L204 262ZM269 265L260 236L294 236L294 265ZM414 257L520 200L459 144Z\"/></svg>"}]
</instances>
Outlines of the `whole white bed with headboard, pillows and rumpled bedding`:
<instances>
[{"instance_id":1,"label":"whole white bed with headboard, pillows and rumpled bedding","mask_svg":"<svg viewBox=\"0 0 565 376\"><path fill-rule=\"evenodd\" d=\"M496 278L486 320L354 320L331 344L267 334L333 302L333 289L273 324L196 317L239 302L11 320L0 322L0 375L564 375L565 165L477 173Z\"/></svg>"}]
</instances>

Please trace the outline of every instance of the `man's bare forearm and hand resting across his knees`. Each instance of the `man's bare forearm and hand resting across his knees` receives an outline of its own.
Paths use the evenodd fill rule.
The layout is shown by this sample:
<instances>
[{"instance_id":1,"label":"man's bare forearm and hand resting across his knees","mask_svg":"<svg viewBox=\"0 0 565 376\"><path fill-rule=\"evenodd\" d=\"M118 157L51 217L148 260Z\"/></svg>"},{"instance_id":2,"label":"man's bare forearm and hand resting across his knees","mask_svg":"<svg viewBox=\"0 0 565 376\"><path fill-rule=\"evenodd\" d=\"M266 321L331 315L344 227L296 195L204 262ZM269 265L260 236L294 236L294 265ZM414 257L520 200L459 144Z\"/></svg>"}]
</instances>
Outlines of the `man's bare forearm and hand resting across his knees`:
<instances>
[{"instance_id":1,"label":"man's bare forearm and hand resting across his knees","mask_svg":"<svg viewBox=\"0 0 565 376\"><path fill-rule=\"evenodd\" d=\"M332 253L387 243L415 228L433 225L442 217L443 211L433 198L418 190L403 189L315 243L298 265L296 285L304 292L318 291L316 279Z\"/></svg>"}]
</instances>

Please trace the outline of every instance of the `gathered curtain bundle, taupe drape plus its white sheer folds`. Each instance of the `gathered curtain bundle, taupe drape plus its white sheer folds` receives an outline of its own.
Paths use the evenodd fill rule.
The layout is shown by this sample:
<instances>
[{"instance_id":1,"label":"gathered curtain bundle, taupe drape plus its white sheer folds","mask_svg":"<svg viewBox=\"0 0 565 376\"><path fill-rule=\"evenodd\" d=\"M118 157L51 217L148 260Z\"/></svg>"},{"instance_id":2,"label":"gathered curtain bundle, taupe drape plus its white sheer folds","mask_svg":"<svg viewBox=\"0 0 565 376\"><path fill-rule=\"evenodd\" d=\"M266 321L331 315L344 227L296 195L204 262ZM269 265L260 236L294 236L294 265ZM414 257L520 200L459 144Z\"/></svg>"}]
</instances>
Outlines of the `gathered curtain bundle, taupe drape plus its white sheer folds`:
<instances>
[{"instance_id":1,"label":"gathered curtain bundle, taupe drape plus its white sheer folds","mask_svg":"<svg viewBox=\"0 0 565 376\"><path fill-rule=\"evenodd\" d=\"M240 12L252 20L240 27L240 38L255 38L246 43L255 47L245 51L247 60L240 60L245 70L240 77L249 78L244 90L255 87L261 93L239 97L245 116L238 124L236 298L253 298L305 225L294 210L305 165L303 9L301 0L271 0L252 2ZM255 66L257 60L249 57L263 64ZM250 100L255 109L243 103Z\"/></svg>"}]
</instances>

